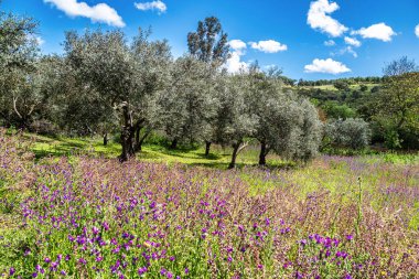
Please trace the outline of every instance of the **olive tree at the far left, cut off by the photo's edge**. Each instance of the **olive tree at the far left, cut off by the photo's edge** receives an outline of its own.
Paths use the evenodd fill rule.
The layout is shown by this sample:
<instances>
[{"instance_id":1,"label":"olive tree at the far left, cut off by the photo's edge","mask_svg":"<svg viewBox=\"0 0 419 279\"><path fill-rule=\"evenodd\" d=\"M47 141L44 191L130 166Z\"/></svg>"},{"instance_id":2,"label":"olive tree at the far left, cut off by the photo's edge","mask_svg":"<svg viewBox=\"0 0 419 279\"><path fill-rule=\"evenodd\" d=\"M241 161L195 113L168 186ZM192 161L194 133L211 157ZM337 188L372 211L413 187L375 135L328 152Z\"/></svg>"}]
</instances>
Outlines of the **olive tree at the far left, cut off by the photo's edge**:
<instances>
[{"instance_id":1,"label":"olive tree at the far left, cut off by the photo's edge","mask_svg":"<svg viewBox=\"0 0 419 279\"><path fill-rule=\"evenodd\" d=\"M33 87L39 56L35 30L30 18L0 11L0 116L8 125L28 128L41 104Z\"/></svg>"}]
</instances>

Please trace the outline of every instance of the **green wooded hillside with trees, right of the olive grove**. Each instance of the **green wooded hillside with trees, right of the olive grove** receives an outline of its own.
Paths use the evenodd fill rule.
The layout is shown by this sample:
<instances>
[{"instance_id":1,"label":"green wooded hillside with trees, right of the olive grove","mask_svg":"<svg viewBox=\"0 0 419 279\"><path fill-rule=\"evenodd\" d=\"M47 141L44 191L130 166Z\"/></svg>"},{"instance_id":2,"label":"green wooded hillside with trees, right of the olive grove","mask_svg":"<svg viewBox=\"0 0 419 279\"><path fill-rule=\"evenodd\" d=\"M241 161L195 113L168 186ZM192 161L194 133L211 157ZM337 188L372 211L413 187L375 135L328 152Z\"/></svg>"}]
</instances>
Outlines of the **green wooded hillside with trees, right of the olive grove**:
<instances>
[{"instance_id":1,"label":"green wooded hillside with trees, right of the olive grove","mask_svg":"<svg viewBox=\"0 0 419 279\"><path fill-rule=\"evenodd\" d=\"M334 89L298 87L297 90L319 108L323 121L362 118L369 124L373 144L418 150L418 65L404 56L389 63L383 73L378 84L350 86L344 78L334 81Z\"/></svg>"}]
</instances>

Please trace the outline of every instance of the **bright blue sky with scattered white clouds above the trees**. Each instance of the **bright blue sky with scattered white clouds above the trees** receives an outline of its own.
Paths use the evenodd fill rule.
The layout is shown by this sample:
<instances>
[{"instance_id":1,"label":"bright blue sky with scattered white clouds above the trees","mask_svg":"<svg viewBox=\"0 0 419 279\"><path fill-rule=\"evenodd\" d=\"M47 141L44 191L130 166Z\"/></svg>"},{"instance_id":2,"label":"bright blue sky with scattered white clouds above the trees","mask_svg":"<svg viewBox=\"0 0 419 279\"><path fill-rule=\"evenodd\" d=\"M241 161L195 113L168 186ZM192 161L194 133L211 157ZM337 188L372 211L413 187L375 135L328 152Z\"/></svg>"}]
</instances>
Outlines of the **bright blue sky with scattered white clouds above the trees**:
<instances>
[{"instance_id":1,"label":"bright blue sky with scattered white clouds above the trees","mask_svg":"<svg viewBox=\"0 0 419 279\"><path fill-rule=\"evenodd\" d=\"M217 17L232 41L228 68L253 61L292 78L382 75L402 55L419 62L418 0L3 0L1 9L40 22L44 53L61 53L64 31L152 26L174 56L198 20Z\"/></svg>"}]
</instances>

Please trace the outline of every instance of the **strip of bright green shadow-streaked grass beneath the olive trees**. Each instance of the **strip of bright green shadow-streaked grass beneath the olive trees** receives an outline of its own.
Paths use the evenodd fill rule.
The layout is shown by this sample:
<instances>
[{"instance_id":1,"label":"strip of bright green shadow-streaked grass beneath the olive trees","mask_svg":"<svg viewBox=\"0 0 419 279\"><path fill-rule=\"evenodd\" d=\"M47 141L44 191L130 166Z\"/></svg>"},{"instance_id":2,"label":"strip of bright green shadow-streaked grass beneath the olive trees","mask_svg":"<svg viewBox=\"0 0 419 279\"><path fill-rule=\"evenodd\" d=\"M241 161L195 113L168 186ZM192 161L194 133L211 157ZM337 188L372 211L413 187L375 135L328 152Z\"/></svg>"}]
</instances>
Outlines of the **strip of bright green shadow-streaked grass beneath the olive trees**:
<instances>
[{"instance_id":1,"label":"strip of bright green shadow-streaked grass beneath the olive trees","mask_svg":"<svg viewBox=\"0 0 419 279\"><path fill-rule=\"evenodd\" d=\"M119 143L110 141L104 146L100 138L65 138L65 137L45 137L32 133L25 133L28 140L32 140L32 151L37 159L44 157L77 155L94 153L105 158L116 158L120 154L121 147ZM159 144L144 144L142 151L137 154L141 161L152 161L161 163L183 163L196 167L206 167L215 169L226 169L230 162L232 149L219 146L212 146L211 154L205 157L204 147L180 148L171 150L168 147ZM256 146L247 147L237 158L237 167L254 165L258 162L259 150ZM272 168L282 168L292 165L291 162L281 160L276 154L268 155L269 165Z\"/></svg>"}]
</instances>

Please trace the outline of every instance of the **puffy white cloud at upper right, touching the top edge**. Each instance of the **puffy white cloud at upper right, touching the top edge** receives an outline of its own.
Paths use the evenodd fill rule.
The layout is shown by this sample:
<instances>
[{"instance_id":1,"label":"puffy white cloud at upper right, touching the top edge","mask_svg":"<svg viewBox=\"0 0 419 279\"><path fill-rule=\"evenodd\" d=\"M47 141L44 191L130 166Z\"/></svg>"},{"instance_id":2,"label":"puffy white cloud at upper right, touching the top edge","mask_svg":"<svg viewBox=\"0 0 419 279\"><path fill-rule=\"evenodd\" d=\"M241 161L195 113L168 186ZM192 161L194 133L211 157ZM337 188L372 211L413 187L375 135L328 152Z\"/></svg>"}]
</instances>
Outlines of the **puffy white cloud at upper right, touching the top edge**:
<instances>
[{"instance_id":1,"label":"puffy white cloud at upper right, touching the top edge","mask_svg":"<svg viewBox=\"0 0 419 279\"><path fill-rule=\"evenodd\" d=\"M312 29L320 30L331 36L341 36L348 29L329 14L339 10L336 2L318 0L310 3L307 22Z\"/></svg>"}]
</instances>

